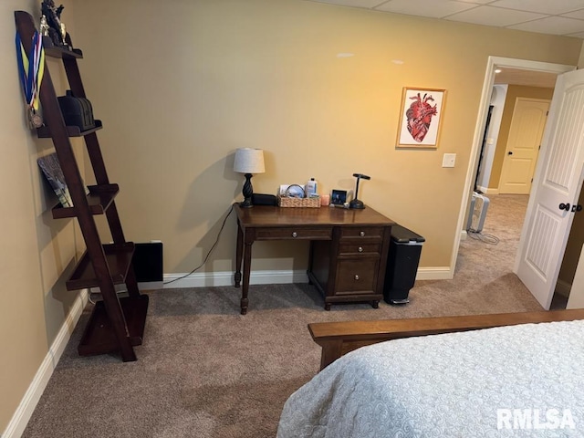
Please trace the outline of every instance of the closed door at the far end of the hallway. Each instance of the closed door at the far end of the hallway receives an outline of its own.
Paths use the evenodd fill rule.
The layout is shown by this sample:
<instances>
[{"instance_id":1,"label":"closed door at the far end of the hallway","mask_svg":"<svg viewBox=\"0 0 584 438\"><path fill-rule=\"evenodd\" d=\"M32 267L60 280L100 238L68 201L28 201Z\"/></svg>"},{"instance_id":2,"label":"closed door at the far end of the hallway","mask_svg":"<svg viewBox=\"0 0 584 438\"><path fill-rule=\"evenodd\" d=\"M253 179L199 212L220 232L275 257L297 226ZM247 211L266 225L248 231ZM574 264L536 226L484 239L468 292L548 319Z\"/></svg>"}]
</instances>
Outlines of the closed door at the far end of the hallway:
<instances>
[{"instance_id":1,"label":"closed door at the far end of the hallway","mask_svg":"<svg viewBox=\"0 0 584 438\"><path fill-rule=\"evenodd\" d=\"M547 120L549 100L517 98L507 138L499 193L528 194Z\"/></svg>"}]
</instances>

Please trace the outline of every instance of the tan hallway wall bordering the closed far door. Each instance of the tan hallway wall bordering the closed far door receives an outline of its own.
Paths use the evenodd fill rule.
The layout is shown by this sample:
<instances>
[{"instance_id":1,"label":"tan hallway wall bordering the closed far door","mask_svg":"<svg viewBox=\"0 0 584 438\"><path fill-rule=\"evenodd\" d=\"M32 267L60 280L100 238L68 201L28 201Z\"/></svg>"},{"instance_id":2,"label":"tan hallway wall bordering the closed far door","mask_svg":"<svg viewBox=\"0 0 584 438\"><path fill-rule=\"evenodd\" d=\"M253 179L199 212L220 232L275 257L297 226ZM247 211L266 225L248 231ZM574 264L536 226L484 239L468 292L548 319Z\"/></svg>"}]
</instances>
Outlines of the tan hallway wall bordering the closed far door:
<instances>
[{"instance_id":1,"label":"tan hallway wall bordering the closed far door","mask_svg":"<svg viewBox=\"0 0 584 438\"><path fill-rule=\"evenodd\" d=\"M496 142L495 156L493 158L493 168L491 171L491 177L489 178L489 188L499 188L501 170L503 169L503 160L505 160L507 138L509 137L509 130L511 129L511 121L513 120L513 111L515 110L516 99L531 98L551 100L553 94L554 89L509 85L507 88L505 107L503 109L503 117L501 118L501 128L499 129L499 135Z\"/></svg>"}]
</instances>

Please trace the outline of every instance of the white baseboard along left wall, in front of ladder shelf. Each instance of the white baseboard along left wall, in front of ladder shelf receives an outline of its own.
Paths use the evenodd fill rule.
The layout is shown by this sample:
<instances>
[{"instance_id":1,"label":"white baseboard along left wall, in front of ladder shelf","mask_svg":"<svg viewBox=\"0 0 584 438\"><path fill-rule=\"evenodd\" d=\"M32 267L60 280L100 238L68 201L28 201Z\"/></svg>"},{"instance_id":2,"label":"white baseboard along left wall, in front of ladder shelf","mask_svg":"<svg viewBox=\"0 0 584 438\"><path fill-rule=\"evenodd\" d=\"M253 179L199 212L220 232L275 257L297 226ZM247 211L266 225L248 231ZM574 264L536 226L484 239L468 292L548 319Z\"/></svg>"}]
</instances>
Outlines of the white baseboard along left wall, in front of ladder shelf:
<instances>
[{"instance_id":1,"label":"white baseboard along left wall, in front of ladder shelf","mask_svg":"<svg viewBox=\"0 0 584 438\"><path fill-rule=\"evenodd\" d=\"M40 400L40 396L47 387L48 380L53 375L55 367L57 367L58 360L61 358L68 340L71 338L73 328L77 325L78 319L81 317L83 308L88 302L88 291L82 290L79 294L73 307L69 312L63 325L58 330L57 338L53 341L50 349L48 349L47 356L41 362L40 367L36 370L35 378L28 385L25 396L20 401L16 412L12 416L2 438L18 438L25 432L26 424L30 420L35 411L36 404Z\"/></svg>"}]
</instances>

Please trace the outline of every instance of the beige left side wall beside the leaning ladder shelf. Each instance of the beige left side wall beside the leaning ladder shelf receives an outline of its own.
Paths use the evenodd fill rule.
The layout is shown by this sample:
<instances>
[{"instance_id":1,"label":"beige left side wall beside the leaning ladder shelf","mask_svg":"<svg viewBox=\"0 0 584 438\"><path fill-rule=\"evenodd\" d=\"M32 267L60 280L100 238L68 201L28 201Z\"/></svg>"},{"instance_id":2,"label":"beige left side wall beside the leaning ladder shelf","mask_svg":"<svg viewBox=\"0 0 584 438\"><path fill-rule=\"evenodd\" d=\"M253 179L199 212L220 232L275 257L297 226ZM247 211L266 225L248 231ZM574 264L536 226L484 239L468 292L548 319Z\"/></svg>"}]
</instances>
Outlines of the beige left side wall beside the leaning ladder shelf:
<instances>
[{"instance_id":1,"label":"beige left side wall beside the leaning ladder shelf","mask_svg":"<svg viewBox=\"0 0 584 438\"><path fill-rule=\"evenodd\" d=\"M38 16L34 12L38 5L36 1L0 2L0 433L78 296L64 287L78 252L77 225L55 221L50 214L57 198L46 189L36 158L53 151L52 142L36 139L27 128L16 69L14 11L25 9ZM72 17L70 5L66 10L64 16ZM59 67L52 60L50 64ZM57 68L57 89L63 89L63 78Z\"/></svg>"}]
</instances>

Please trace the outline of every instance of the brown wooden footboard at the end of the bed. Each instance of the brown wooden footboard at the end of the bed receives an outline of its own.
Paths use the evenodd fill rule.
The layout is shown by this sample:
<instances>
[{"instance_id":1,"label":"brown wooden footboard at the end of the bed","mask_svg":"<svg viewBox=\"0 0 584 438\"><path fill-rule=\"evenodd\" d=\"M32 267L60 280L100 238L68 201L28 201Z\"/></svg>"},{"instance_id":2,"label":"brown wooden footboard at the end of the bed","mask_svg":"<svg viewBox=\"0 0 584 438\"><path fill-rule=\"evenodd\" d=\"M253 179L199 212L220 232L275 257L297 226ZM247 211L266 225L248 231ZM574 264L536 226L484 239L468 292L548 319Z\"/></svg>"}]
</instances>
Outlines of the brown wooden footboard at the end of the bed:
<instances>
[{"instance_id":1,"label":"brown wooden footboard at the end of the bed","mask_svg":"<svg viewBox=\"0 0 584 438\"><path fill-rule=\"evenodd\" d=\"M343 354L353 349L383 340L575 319L584 319L584 309L500 313L465 317L318 322L308 324L308 330L312 339L322 348L320 357L320 370L322 370L329 363L339 359Z\"/></svg>"}]
</instances>

